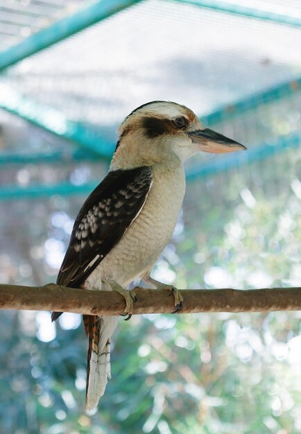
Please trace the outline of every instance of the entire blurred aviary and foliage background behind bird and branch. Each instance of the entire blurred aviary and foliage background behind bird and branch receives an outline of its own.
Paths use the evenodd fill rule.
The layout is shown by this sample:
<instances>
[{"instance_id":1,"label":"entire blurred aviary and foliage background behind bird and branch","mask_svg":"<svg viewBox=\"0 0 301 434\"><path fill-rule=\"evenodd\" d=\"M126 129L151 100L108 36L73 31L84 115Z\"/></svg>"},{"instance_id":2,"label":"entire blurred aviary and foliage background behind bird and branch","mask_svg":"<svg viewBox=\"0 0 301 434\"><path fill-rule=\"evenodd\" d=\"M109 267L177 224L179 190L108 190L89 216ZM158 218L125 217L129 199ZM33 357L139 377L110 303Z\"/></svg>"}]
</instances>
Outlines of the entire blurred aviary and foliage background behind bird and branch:
<instances>
[{"instance_id":1,"label":"entire blurred aviary and foliage background behind bird and branch","mask_svg":"<svg viewBox=\"0 0 301 434\"><path fill-rule=\"evenodd\" d=\"M135 107L170 100L248 146L187 163L154 277L178 288L299 286L298 0L1 0L0 281L54 282L74 218ZM300 312L120 320L85 412L80 315L0 313L0 432L301 431Z\"/></svg>"}]
</instances>

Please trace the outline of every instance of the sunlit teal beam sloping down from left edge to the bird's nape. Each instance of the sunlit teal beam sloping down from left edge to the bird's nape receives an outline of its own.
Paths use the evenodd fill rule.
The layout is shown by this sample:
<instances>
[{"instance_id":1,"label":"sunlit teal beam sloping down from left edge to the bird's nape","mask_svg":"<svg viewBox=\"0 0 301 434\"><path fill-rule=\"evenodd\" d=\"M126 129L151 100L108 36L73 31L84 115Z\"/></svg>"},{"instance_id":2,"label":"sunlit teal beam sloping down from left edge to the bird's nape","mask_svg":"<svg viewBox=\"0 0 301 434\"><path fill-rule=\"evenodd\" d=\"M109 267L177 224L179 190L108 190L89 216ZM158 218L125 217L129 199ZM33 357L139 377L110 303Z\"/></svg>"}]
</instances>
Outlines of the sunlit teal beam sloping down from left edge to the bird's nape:
<instances>
[{"instance_id":1,"label":"sunlit teal beam sloping down from left edge to the bird's nape","mask_svg":"<svg viewBox=\"0 0 301 434\"><path fill-rule=\"evenodd\" d=\"M62 139L74 141L86 150L110 160L114 145L79 122L70 121L60 110L36 103L0 83L0 108L44 128Z\"/></svg>"}]
</instances>

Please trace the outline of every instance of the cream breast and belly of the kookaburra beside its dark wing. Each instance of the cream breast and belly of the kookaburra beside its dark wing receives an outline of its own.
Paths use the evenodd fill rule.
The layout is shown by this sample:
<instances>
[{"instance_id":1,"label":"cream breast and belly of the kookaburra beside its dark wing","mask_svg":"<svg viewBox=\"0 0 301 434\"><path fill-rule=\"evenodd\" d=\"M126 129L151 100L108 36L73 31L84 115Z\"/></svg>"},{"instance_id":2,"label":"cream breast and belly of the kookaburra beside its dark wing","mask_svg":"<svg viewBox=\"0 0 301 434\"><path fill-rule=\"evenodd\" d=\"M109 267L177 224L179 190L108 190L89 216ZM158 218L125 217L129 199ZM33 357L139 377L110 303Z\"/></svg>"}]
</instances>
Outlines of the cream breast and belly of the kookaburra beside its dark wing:
<instances>
[{"instance_id":1,"label":"cream breast and belly of the kookaburra beside its dark wing","mask_svg":"<svg viewBox=\"0 0 301 434\"><path fill-rule=\"evenodd\" d=\"M185 191L182 164L153 168L153 186L139 216L121 241L88 277L86 288L101 289L101 278L122 286L151 270L169 242L177 223Z\"/></svg>"}]
</instances>

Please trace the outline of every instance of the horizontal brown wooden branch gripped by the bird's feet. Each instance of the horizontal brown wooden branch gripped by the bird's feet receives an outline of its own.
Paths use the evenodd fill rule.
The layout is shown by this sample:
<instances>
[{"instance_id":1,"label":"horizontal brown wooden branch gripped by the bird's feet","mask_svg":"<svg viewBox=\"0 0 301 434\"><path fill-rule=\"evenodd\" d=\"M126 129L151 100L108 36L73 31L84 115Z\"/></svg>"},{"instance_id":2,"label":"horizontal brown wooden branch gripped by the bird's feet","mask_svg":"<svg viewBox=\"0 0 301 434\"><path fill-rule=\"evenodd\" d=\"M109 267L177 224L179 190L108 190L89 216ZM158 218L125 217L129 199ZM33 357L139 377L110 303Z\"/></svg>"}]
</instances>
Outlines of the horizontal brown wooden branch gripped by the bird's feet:
<instances>
[{"instance_id":1,"label":"horizontal brown wooden branch gripped by the bird's feet","mask_svg":"<svg viewBox=\"0 0 301 434\"><path fill-rule=\"evenodd\" d=\"M135 288L133 314L171 313L173 296L167 290ZM301 310L301 288L181 290L180 313L260 312ZM171 296L170 296L171 295ZM125 300L116 292L45 286L0 285L0 309L58 311L87 315L119 315Z\"/></svg>"}]
</instances>

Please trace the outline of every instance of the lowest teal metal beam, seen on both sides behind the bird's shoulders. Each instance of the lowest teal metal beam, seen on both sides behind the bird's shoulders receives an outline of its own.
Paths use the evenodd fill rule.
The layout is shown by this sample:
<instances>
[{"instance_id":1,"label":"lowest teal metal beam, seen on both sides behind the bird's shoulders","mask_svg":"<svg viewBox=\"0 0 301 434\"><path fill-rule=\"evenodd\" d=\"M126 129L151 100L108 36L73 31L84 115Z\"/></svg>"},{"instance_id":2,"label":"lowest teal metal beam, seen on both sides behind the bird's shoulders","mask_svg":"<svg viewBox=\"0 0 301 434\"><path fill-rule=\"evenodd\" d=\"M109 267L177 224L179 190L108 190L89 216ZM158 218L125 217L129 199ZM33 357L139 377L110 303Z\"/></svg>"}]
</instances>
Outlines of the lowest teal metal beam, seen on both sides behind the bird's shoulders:
<instances>
[{"instance_id":1,"label":"lowest teal metal beam, seen on both sides behind the bird's shoulders","mask_svg":"<svg viewBox=\"0 0 301 434\"><path fill-rule=\"evenodd\" d=\"M187 181L193 182L202 177L209 177L231 171L233 168L241 168L246 164L252 164L277 155L288 149L300 148L301 133L291 134L289 137L279 139L274 144L261 144L250 148L248 152L234 153L215 157L212 161L187 169ZM48 198L53 195L60 196L87 196L100 181L92 181L88 184L76 186L71 183L56 185L33 184L22 188L20 186L3 186L0 188L0 201L31 200Z\"/></svg>"}]
</instances>

